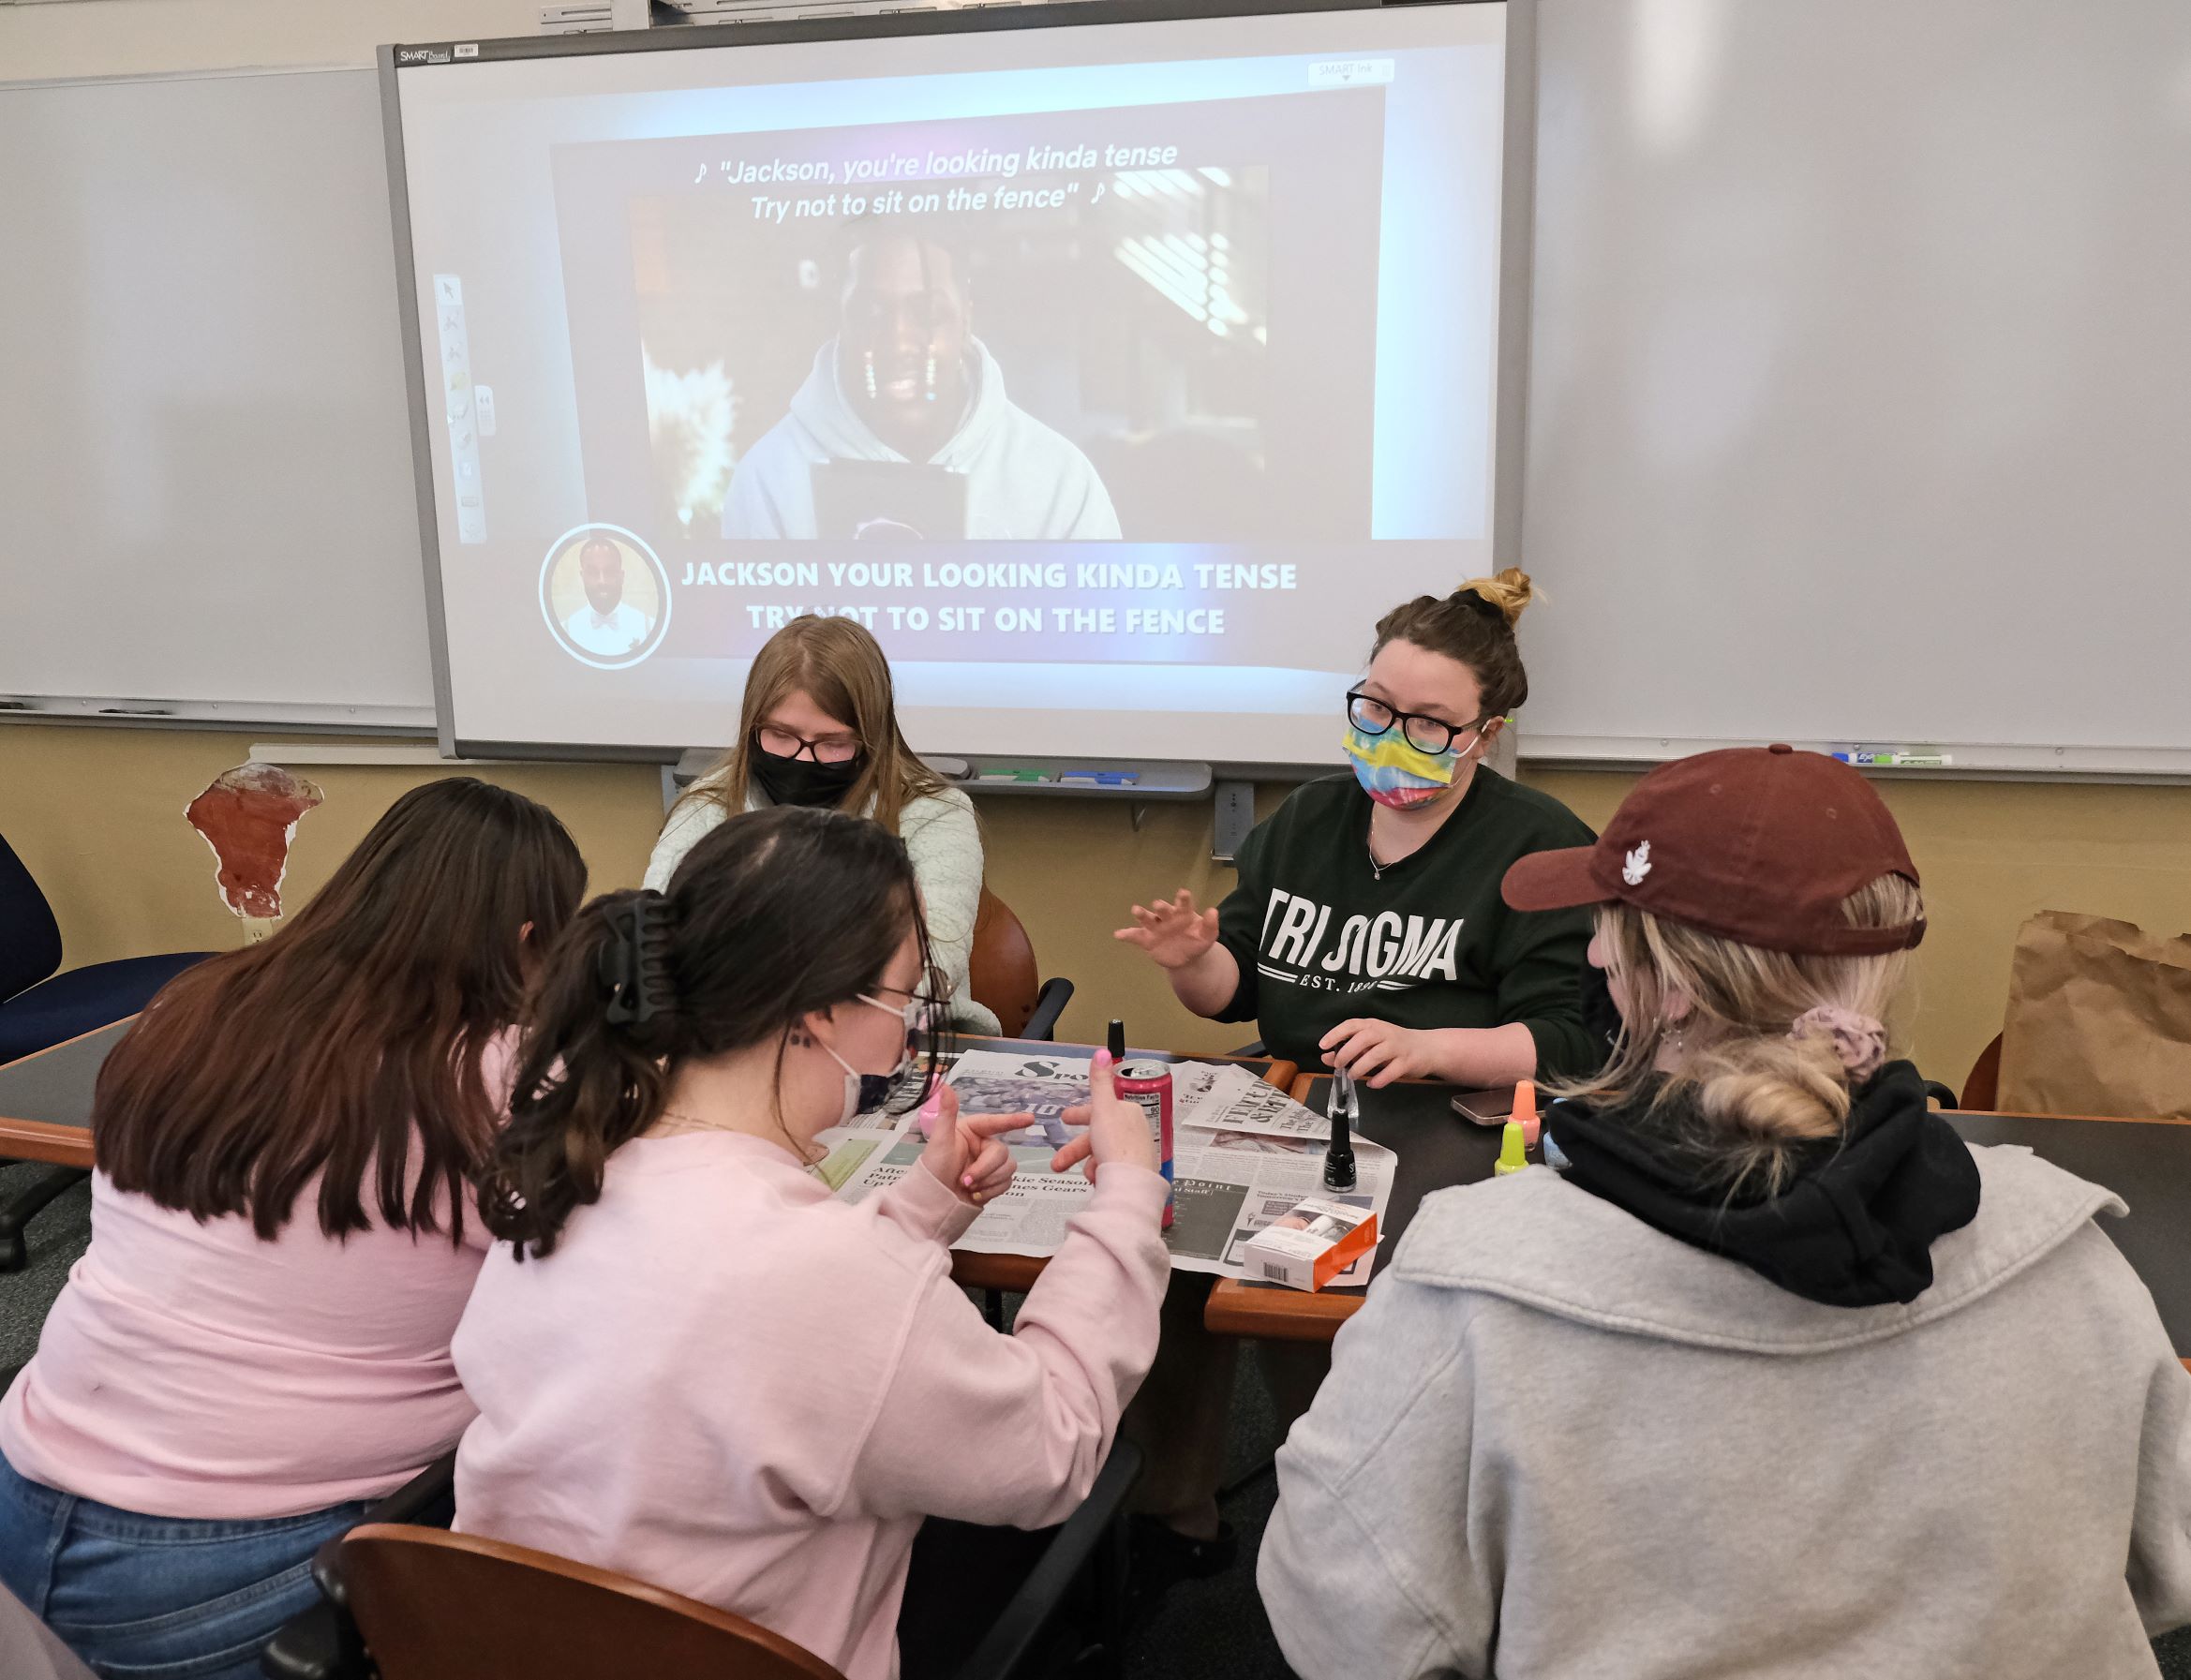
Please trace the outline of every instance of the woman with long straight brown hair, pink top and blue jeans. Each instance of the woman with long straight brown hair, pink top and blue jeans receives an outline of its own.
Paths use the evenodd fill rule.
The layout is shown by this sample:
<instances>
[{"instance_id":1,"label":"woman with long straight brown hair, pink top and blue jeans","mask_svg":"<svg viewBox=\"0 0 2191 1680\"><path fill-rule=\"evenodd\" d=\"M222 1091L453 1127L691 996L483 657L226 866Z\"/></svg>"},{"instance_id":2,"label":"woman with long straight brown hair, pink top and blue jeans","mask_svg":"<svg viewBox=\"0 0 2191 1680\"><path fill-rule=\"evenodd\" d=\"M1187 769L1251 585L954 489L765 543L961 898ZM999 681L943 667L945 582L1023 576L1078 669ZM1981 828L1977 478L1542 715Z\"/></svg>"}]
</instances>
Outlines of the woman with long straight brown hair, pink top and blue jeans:
<instances>
[{"instance_id":1,"label":"woman with long straight brown hair, pink top and blue jeans","mask_svg":"<svg viewBox=\"0 0 2191 1680\"><path fill-rule=\"evenodd\" d=\"M471 1422L464 1207L583 889L546 808L432 782L107 1058L92 1246L0 1402L0 1581L103 1673L256 1673L313 1549Z\"/></svg>"}]
</instances>

